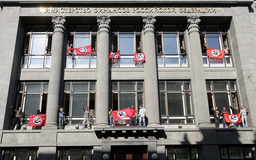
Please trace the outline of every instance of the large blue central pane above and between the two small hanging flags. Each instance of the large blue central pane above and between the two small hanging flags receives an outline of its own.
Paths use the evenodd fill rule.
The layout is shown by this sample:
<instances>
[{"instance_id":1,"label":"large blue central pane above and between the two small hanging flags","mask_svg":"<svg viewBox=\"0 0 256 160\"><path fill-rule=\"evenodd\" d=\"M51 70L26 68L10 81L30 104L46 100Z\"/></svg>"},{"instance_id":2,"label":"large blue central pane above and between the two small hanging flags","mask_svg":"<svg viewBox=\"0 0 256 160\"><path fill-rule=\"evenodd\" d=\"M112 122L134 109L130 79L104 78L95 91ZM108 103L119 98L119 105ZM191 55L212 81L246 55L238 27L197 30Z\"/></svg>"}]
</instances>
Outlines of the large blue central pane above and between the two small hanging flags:
<instances>
[{"instance_id":1,"label":"large blue central pane above and between the two small hanging flags","mask_svg":"<svg viewBox=\"0 0 256 160\"><path fill-rule=\"evenodd\" d=\"M119 35L119 51L122 55L134 54L134 34Z\"/></svg>"}]
</instances>

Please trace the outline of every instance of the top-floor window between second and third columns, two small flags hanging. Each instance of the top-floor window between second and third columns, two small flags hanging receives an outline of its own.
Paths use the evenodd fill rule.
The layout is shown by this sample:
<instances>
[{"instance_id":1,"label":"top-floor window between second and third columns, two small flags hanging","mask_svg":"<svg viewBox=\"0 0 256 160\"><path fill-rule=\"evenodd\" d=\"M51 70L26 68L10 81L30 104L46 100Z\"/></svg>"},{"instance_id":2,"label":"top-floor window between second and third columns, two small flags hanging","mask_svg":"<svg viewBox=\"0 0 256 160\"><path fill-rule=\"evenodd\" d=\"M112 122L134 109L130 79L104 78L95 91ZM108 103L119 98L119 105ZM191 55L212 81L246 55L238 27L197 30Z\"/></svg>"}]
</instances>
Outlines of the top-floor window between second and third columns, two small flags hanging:
<instances>
[{"instance_id":1,"label":"top-floor window between second and third columns, two small flags hanging","mask_svg":"<svg viewBox=\"0 0 256 160\"><path fill-rule=\"evenodd\" d=\"M121 55L120 58L111 59L112 67L143 67L142 61L134 62L134 52L141 48L140 25L113 25L112 40L112 48L116 47Z\"/></svg>"}]
</instances>

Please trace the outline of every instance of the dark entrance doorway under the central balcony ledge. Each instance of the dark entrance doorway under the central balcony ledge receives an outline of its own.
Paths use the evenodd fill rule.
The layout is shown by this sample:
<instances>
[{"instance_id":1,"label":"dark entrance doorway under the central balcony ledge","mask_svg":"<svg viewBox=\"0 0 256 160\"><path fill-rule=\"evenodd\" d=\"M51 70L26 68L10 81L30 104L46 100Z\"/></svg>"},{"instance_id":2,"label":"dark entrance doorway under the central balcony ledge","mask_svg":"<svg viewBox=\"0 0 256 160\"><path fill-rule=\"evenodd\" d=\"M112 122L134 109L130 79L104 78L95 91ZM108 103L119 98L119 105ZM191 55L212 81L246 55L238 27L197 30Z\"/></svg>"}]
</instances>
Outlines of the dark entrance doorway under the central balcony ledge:
<instances>
[{"instance_id":1,"label":"dark entrance doorway under the central balcony ledge","mask_svg":"<svg viewBox=\"0 0 256 160\"><path fill-rule=\"evenodd\" d=\"M147 145L111 146L111 160L147 160Z\"/></svg>"}]
</instances>

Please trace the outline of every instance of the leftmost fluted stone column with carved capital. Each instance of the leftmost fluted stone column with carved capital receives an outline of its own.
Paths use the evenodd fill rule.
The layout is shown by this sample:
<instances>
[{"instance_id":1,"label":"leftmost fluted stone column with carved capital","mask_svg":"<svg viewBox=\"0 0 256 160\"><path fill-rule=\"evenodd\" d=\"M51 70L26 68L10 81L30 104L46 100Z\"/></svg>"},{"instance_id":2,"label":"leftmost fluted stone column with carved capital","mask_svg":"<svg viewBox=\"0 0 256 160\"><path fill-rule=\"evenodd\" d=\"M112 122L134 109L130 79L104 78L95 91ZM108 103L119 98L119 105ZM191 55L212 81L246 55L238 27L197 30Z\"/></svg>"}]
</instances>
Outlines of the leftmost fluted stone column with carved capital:
<instances>
[{"instance_id":1,"label":"leftmost fluted stone column with carved capital","mask_svg":"<svg viewBox=\"0 0 256 160\"><path fill-rule=\"evenodd\" d=\"M62 63L65 58L63 52L63 35L65 31L66 17L52 17L53 22L53 39L52 39L52 60L50 80L47 96L47 109L46 109L46 129L57 129L57 106L61 104L60 97L63 92L64 65Z\"/></svg>"}]
</instances>

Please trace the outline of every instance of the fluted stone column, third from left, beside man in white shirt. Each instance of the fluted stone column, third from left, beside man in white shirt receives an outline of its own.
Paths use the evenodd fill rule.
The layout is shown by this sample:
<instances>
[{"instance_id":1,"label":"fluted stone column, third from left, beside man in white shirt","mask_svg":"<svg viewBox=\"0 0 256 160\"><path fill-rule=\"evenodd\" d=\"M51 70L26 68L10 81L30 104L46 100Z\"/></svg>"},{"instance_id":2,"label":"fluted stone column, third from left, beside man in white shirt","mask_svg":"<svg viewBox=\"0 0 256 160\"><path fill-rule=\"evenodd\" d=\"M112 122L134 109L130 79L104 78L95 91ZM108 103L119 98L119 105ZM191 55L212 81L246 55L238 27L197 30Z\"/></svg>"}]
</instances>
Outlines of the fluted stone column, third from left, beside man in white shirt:
<instances>
[{"instance_id":1,"label":"fluted stone column, third from left, beside man in white shirt","mask_svg":"<svg viewBox=\"0 0 256 160\"><path fill-rule=\"evenodd\" d=\"M156 17L143 16L143 51L146 63L144 64L145 78L145 109L148 118L148 126L160 125L159 118L159 91L158 71L156 61L155 27Z\"/></svg>"}]
</instances>

